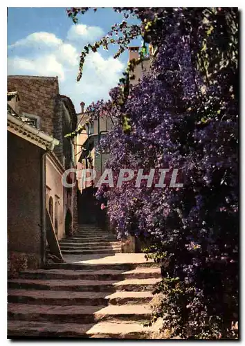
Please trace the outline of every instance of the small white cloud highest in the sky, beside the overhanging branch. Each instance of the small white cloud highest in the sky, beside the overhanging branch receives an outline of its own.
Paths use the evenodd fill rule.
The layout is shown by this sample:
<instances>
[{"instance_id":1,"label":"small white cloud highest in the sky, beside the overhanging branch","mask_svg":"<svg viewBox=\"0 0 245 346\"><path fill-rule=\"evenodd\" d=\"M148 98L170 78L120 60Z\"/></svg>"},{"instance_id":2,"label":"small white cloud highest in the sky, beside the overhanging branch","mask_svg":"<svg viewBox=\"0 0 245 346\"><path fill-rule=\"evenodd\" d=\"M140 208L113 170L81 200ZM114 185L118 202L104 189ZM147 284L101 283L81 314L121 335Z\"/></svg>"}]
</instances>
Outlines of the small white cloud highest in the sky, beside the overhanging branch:
<instances>
[{"instance_id":1,"label":"small white cloud highest in the sky, beside the overhanging branch","mask_svg":"<svg viewBox=\"0 0 245 346\"><path fill-rule=\"evenodd\" d=\"M67 33L67 38L71 41L82 39L84 43L93 42L102 38L104 31L99 26L87 26L85 24L73 24Z\"/></svg>"}]
</instances>

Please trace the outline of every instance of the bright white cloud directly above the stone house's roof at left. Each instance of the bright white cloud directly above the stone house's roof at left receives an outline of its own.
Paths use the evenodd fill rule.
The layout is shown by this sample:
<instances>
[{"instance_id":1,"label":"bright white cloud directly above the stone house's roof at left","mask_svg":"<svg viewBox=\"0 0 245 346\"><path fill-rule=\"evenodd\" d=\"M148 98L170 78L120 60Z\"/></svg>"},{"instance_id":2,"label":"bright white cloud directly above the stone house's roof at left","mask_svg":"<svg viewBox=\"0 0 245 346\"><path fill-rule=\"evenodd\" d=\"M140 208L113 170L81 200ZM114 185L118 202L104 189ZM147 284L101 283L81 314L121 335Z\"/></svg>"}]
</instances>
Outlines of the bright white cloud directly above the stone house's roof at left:
<instances>
[{"instance_id":1,"label":"bright white cloud directly above the stone house's roof at left","mask_svg":"<svg viewBox=\"0 0 245 346\"><path fill-rule=\"evenodd\" d=\"M34 74L45 76L58 76L64 80L64 69L60 62L57 62L55 55L44 55L35 59L12 57L8 59L8 74Z\"/></svg>"}]
</instances>

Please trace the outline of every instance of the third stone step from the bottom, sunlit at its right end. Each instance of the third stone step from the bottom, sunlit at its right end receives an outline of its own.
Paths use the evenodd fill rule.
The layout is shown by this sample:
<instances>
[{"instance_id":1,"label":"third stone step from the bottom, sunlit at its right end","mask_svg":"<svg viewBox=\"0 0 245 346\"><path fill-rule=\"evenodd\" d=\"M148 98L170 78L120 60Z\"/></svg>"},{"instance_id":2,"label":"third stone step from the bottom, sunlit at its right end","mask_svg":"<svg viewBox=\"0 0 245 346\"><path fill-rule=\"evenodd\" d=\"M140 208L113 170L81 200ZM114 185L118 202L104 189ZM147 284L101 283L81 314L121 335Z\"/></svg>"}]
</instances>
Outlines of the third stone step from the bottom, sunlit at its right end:
<instances>
[{"instance_id":1,"label":"third stone step from the bottom, sunlit at its right end","mask_svg":"<svg viewBox=\"0 0 245 346\"><path fill-rule=\"evenodd\" d=\"M8 302L46 305L108 305L147 304L152 300L150 291L145 292L71 292L9 289Z\"/></svg>"}]
</instances>

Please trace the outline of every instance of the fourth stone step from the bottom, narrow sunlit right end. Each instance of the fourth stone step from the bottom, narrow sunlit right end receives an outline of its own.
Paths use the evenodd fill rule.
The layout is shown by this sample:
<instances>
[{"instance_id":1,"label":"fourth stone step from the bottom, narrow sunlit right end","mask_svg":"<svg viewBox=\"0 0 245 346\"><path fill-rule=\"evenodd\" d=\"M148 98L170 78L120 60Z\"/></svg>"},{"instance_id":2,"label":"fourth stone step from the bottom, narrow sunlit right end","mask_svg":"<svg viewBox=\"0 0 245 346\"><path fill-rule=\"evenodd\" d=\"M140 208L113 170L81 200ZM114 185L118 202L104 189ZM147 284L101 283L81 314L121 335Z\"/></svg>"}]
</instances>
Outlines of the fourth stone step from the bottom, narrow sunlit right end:
<instances>
[{"instance_id":1,"label":"fourth stone step from the bottom, narrow sunlit right end","mask_svg":"<svg viewBox=\"0 0 245 346\"><path fill-rule=\"evenodd\" d=\"M49 289L53 291L152 291L161 279L126 279L119 282L114 280L8 280L8 289Z\"/></svg>"}]
</instances>

